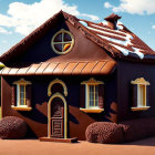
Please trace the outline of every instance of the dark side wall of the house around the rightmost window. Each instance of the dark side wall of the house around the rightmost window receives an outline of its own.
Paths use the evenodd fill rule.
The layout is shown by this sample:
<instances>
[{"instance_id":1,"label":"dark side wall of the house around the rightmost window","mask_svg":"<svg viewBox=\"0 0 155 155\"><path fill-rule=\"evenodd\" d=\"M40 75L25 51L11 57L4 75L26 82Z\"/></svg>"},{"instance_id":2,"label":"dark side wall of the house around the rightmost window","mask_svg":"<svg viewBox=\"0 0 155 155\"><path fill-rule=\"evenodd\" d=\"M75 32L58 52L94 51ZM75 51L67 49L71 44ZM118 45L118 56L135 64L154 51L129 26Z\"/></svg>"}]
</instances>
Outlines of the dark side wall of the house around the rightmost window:
<instances>
[{"instance_id":1,"label":"dark side wall of the house around the rightmost window","mask_svg":"<svg viewBox=\"0 0 155 155\"><path fill-rule=\"evenodd\" d=\"M138 78L144 78L151 83L147 93L151 108L133 112L131 111L133 99L131 81ZM155 117L154 64L120 61L117 65L117 80L118 120L124 121L138 117Z\"/></svg>"}]
</instances>

